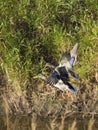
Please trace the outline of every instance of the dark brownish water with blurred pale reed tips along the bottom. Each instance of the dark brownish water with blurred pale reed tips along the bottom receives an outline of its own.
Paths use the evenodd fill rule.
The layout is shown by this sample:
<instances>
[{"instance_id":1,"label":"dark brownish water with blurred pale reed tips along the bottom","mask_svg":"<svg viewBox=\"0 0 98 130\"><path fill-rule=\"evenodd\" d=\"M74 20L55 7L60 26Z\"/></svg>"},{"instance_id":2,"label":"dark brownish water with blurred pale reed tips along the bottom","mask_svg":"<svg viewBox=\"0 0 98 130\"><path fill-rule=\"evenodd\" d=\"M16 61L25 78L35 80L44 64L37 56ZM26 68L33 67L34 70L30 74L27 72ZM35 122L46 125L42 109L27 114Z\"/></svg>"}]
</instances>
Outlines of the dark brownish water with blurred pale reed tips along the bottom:
<instances>
[{"instance_id":1,"label":"dark brownish water with blurred pale reed tips along the bottom","mask_svg":"<svg viewBox=\"0 0 98 130\"><path fill-rule=\"evenodd\" d=\"M6 122L9 124L7 125ZM43 118L32 115L13 115L0 117L0 130L98 130L98 120L72 117Z\"/></svg>"}]
</instances>

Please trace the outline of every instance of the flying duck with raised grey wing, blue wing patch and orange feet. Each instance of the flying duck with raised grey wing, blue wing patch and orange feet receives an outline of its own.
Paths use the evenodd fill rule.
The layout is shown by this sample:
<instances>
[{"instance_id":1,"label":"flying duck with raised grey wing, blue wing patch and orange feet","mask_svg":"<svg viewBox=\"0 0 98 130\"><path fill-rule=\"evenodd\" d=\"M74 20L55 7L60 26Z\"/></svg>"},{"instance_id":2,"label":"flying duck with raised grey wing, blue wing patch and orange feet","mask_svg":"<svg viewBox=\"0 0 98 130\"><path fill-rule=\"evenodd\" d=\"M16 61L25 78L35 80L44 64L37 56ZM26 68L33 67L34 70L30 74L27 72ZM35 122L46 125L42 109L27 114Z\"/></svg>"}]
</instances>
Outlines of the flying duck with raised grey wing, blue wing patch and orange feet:
<instances>
[{"instance_id":1,"label":"flying duck with raised grey wing, blue wing patch and orange feet","mask_svg":"<svg viewBox=\"0 0 98 130\"><path fill-rule=\"evenodd\" d=\"M53 72L48 77L43 74L38 74L38 77L43 79L47 84L61 90L63 99L66 99L64 96L65 93L69 97L71 93L78 91L77 87L71 85L69 78L70 73L72 77L78 79L78 75L73 71L73 67L77 60L77 49L78 43L74 45L69 53L62 54L58 66L54 68Z\"/></svg>"}]
</instances>

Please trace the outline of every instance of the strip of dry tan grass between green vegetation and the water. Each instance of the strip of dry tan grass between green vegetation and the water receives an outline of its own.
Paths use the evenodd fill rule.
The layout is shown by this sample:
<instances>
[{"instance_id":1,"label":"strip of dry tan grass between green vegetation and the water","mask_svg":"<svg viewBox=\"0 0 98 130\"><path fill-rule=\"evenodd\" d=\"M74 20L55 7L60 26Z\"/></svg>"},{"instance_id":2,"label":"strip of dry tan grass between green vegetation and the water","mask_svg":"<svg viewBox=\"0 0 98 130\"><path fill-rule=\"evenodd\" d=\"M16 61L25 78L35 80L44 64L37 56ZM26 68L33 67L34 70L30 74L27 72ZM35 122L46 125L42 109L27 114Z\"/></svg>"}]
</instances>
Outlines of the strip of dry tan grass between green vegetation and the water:
<instances>
[{"instance_id":1,"label":"strip of dry tan grass between green vegetation and the water","mask_svg":"<svg viewBox=\"0 0 98 130\"><path fill-rule=\"evenodd\" d=\"M78 92L62 99L58 89L43 85L41 81L32 84L20 94L12 89L0 89L0 113L36 113L44 117L70 116L82 113L83 116L98 114L98 88L94 84L81 82Z\"/></svg>"}]
</instances>

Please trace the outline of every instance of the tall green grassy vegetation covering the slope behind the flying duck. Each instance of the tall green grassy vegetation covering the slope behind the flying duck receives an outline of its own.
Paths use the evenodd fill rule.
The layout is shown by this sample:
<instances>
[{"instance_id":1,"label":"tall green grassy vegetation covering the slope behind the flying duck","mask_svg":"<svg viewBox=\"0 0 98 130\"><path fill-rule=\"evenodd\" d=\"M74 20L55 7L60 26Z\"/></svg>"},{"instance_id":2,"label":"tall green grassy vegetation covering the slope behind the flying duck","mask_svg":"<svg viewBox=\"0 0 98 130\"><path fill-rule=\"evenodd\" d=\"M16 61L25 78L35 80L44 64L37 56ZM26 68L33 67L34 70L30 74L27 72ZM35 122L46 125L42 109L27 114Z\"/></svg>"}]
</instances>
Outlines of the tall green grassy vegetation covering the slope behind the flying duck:
<instances>
[{"instance_id":1,"label":"tall green grassy vegetation covering the slope behind the flying duck","mask_svg":"<svg viewBox=\"0 0 98 130\"><path fill-rule=\"evenodd\" d=\"M80 75L77 85L81 91L76 102L86 103L83 110L88 111L87 95L92 94L92 88L91 96L98 99L98 1L3 0L0 7L0 87L13 89L18 95L26 91L25 96L33 95L34 99L41 90L46 94L42 99L52 104L56 99L52 100L52 94L48 99L49 91L45 92L43 85L41 89L37 87L41 81L33 76L40 72L49 74L45 64L57 65L62 52L78 42L75 68Z\"/></svg>"}]
</instances>

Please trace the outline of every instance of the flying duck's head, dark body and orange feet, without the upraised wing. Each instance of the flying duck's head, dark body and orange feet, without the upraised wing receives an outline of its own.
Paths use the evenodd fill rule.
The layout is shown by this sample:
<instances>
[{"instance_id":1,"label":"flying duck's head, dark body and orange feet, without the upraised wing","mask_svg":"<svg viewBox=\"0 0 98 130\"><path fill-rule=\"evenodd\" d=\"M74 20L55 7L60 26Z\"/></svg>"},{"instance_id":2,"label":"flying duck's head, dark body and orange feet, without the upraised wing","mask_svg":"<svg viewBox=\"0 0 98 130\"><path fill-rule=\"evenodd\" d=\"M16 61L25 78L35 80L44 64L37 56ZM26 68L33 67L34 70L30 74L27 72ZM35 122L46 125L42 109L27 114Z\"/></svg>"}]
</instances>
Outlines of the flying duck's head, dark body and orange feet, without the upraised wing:
<instances>
[{"instance_id":1,"label":"flying duck's head, dark body and orange feet, without the upraised wing","mask_svg":"<svg viewBox=\"0 0 98 130\"><path fill-rule=\"evenodd\" d=\"M71 93L75 93L78 90L69 82L69 75L65 67L57 66L50 76L46 77L42 74L38 74L38 77L43 79L47 84L61 90L63 99L66 99L64 96L65 93L69 97L71 96Z\"/></svg>"}]
</instances>

